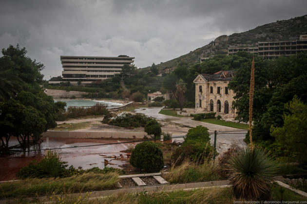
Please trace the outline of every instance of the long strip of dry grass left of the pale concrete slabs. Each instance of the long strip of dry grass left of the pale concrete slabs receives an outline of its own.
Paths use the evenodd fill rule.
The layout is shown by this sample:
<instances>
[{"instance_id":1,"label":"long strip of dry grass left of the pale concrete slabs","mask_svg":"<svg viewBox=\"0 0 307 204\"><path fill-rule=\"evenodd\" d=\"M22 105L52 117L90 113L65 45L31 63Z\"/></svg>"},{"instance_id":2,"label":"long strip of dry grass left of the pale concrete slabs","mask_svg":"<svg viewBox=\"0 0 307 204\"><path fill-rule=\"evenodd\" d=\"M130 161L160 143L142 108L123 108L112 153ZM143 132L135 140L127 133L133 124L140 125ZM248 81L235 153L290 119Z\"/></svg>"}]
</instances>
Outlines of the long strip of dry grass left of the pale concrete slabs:
<instances>
[{"instance_id":1,"label":"long strip of dry grass left of the pale concrete slabs","mask_svg":"<svg viewBox=\"0 0 307 204\"><path fill-rule=\"evenodd\" d=\"M118 174L84 173L67 178L30 178L0 184L0 198L33 197L63 192L79 193L115 187Z\"/></svg>"}]
</instances>

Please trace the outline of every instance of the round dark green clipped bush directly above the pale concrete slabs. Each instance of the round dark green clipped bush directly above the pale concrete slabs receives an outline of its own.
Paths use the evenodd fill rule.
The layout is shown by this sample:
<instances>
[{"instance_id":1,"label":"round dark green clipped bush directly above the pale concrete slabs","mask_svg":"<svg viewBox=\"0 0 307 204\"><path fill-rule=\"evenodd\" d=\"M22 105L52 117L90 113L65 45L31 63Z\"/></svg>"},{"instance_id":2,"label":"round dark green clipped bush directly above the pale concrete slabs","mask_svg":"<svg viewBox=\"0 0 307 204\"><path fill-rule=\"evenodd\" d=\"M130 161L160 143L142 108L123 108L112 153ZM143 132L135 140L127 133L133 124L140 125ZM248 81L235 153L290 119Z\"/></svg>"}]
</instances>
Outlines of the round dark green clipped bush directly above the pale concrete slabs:
<instances>
[{"instance_id":1,"label":"round dark green clipped bush directly above the pale concrete slabs","mask_svg":"<svg viewBox=\"0 0 307 204\"><path fill-rule=\"evenodd\" d=\"M151 141L139 143L131 153L130 164L140 169L140 172L157 172L163 166L163 153L161 149Z\"/></svg>"}]
</instances>

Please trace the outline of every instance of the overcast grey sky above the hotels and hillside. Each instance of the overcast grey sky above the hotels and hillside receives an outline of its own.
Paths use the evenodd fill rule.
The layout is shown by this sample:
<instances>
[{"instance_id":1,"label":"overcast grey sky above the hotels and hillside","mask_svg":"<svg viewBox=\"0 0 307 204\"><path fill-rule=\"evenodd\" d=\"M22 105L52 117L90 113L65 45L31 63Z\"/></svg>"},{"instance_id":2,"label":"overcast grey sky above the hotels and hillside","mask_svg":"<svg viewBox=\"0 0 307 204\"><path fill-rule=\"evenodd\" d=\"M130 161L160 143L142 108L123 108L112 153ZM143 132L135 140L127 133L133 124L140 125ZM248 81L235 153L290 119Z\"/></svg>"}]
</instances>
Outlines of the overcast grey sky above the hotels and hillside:
<instances>
[{"instance_id":1,"label":"overcast grey sky above the hotels and hillside","mask_svg":"<svg viewBox=\"0 0 307 204\"><path fill-rule=\"evenodd\" d=\"M307 0L1 0L0 48L25 47L47 80L61 75L60 55L125 54L143 68L306 8Z\"/></svg>"}]
</instances>

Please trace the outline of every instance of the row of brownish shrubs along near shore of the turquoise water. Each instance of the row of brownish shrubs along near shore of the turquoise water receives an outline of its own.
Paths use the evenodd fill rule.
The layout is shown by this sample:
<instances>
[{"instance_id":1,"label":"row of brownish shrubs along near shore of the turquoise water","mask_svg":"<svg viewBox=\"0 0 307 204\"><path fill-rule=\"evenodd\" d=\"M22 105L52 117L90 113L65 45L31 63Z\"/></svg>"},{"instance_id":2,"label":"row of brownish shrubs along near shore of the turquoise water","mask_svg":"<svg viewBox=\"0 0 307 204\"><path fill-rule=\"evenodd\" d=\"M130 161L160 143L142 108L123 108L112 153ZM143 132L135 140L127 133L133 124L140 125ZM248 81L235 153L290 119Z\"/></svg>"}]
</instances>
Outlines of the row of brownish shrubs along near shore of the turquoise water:
<instances>
[{"instance_id":1,"label":"row of brownish shrubs along near shore of the turquoise water","mask_svg":"<svg viewBox=\"0 0 307 204\"><path fill-rule=\"evenodd\" d=\"M98 115L107 115L109 111L105 105L96 103L92 107L68 107L67 110L60 109L58 111L58 120L65 120L69 118L79 118L85 116L98 116Z\"/></svg>"}]
</instances>

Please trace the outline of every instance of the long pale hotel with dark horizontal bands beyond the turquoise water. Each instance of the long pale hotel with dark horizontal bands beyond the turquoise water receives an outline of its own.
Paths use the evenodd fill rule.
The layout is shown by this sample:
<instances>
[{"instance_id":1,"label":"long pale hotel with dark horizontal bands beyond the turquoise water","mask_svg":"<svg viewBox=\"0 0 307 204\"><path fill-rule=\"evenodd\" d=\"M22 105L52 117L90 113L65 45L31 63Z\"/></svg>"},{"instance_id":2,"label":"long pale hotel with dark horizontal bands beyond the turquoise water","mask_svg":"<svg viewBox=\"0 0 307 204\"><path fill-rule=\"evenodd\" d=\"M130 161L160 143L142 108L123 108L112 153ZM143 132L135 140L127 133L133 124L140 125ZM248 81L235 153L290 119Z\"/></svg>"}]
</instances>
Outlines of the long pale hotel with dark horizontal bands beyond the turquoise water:
<instances>
[{"instance_id":1,"label":"long pale hotel with dark horizontal bands beyond the turquoise water","mask_svg":"<svg viewBox=\"0 0 307 204\"><path fill-rule=\"evenodd\" d=\"M118 57L92 56L60 56L63 67L63 81L73 84L81 81L82 84L99 82L119 74L124 65L132 66L134 57L119 55ZM59 82L51 82L57 84Z\"/></svg>"}]
</instances>

